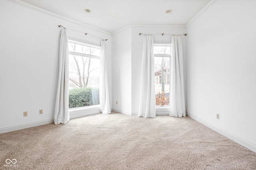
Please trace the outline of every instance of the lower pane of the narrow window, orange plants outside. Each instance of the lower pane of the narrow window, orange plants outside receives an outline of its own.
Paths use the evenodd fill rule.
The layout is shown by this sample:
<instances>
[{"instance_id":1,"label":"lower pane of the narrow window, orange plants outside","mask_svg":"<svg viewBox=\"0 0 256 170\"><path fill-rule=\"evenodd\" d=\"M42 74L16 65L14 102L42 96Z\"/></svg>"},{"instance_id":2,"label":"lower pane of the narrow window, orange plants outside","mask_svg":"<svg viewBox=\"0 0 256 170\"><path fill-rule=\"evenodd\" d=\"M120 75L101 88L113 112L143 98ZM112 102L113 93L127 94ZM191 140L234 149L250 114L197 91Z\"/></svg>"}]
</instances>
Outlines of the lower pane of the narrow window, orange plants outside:
<instances>
[{"instance_id":1,"label":"lower pane of the narrow window, orange plants outside","mask_svg":"<svg viewBox=\"0 0 256 170\"><path fill-rule=\"evenodd\" d=\"M169 106L170 57L154 57L156 106Z\"/></svg>"}]
</instances>

